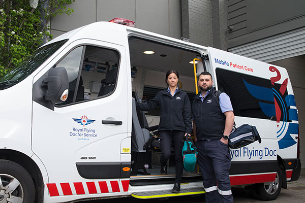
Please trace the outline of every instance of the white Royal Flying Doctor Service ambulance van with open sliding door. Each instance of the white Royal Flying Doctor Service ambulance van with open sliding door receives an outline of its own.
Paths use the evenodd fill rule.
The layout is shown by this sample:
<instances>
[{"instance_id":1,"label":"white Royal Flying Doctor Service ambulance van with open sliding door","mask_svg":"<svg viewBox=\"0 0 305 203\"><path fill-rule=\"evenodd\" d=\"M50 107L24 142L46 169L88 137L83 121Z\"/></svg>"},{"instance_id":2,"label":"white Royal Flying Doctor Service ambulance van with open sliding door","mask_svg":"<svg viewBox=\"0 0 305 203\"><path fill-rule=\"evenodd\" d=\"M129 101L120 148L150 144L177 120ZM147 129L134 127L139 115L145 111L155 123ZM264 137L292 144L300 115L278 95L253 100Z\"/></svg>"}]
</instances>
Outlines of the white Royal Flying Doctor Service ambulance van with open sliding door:
<instances>
[{"instance_id":1,"label":"white Royal Flying Doctor Service ambulance van with open sliding door","mask_svg":"<svg viewBox=\"0 0 305 203\"><path fill-rule=\"evenodd\" d=\"M160 175L160 109L135 108L166 88L170 69L191 103L196 77L210 72L237 126L256 126L261 144L230 150L232 186L271 200L299 178L297 108L283 67L113 21L53 39L0 79L0 202L204 193L198 167L171 193L172 157Z\"/></svg>"}]
</instances>

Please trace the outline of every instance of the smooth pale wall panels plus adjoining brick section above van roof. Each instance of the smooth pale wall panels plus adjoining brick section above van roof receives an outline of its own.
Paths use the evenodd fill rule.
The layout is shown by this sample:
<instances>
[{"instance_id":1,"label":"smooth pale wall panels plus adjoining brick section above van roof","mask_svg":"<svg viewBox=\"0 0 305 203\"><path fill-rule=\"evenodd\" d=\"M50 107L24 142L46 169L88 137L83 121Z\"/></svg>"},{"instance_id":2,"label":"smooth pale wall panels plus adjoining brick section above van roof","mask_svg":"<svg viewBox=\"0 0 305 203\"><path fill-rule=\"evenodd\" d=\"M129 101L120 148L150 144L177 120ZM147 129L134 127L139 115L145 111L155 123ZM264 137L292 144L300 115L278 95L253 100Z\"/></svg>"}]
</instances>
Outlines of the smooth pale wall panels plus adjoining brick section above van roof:
<instances>
[{"instance_id":1,"label":"smooth pale wall panels plus adjoining brick section above van roof","mask_svg":"<svg viewBox=\"0 0 305 203\"><path fill-rule=\"evenodd\" d=\"M74 13L51 19L53 38L119 17L135 21L140 29L227 50L226 0L76 0L69 7Z\"/></svg>"}]
</instances>

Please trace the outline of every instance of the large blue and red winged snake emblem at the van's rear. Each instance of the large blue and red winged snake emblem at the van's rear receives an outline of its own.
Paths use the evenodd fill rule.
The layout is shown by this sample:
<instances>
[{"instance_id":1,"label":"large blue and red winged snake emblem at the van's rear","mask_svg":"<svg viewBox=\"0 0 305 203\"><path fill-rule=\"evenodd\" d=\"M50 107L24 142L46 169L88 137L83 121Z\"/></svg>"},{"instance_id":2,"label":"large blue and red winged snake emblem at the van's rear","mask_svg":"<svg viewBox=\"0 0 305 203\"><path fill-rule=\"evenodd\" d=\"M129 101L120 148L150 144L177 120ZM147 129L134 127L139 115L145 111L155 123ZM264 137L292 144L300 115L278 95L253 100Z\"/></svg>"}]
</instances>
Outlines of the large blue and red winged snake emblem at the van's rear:
<instances>
[{"instance_id":1,"label":"large blue and red winged snake emblem at the van's rear","mask_svg":"<svg viewBox=\"0 0 305 203\"><path fill-rule=\"evenodd\" d=\"M270 66L269 71L276 72L276 77L271 77L271 88L252 85L243 80L246 88L252 96L265 102L259 101L263 113L270 119L275 116L277 119L277 138L279 148L285 149L296 144L293 139L298 135L298 117L293 94L288 94L286 78L282 84L276 82L281 80L280 71ZM274 104L273 104L274 101ZM271 104L270 104L271 103Z\"/></svg>"}]
</instances>

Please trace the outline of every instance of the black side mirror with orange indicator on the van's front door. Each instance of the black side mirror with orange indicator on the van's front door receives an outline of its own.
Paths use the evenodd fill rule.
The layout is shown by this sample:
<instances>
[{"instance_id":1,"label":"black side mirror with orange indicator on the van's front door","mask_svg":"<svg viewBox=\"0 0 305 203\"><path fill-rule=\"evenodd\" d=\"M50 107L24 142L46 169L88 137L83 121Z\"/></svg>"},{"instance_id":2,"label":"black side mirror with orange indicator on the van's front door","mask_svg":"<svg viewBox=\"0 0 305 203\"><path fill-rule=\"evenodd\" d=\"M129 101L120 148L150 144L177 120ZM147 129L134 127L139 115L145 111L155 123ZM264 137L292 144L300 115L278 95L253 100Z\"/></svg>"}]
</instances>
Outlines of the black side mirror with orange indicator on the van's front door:
<instances>
[{"instance_id":1,"label":"black side mirror with orange indicator on the van's front door","mask_svg":"<svg viewBox=\"0 0 305 203\"><path fill-rule=\"evenodd\" d=\"M68 98L69 82L67 70L64 67L50 69L48 77L43 79L45 91L44 99L54 104L63 103Z\"/></svg>"}]
</instances>

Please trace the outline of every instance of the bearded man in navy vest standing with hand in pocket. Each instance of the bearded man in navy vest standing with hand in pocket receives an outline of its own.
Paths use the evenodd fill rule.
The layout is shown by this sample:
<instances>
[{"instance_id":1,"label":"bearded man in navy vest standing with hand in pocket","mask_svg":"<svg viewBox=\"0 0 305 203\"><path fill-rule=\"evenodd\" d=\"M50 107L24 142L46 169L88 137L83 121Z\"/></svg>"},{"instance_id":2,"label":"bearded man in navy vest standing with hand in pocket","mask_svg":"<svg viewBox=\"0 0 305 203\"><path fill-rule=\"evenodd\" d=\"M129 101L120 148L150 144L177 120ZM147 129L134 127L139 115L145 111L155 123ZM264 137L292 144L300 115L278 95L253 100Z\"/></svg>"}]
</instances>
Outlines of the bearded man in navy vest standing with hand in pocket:
<instances>
[{"instance_id":1,"label":"bearded man in navy vest standing with hand in pocket","mask_svg":"<svg viewBox=\"0 0 305 203\"><path fill-rule=\"evenodd\" d=\"M228 138L234 124L230 97L212 87L212 76L202 72L194 97L193 133L198 150L198 165L203 177L206 202L233 202L229 170Z\"/></svg>"}]
</instances>

